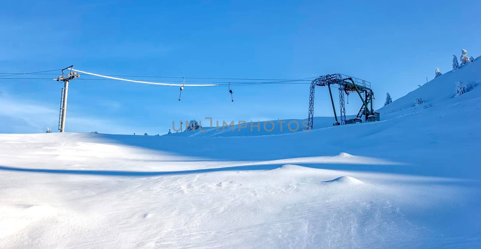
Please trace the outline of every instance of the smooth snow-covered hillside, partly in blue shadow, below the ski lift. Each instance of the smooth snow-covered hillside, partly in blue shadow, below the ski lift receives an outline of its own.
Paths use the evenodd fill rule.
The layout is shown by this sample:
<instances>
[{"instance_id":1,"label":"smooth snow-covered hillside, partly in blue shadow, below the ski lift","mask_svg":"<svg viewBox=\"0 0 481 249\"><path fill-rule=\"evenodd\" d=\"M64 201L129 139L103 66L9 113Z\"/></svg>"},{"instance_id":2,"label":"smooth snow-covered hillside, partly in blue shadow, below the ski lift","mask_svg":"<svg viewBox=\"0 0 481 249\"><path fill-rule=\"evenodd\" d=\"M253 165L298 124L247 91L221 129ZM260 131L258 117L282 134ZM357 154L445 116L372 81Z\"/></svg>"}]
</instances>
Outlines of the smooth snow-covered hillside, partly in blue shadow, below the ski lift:
<instances>
[{"instance_id":1,"label":"smooth snow-covered hillside, partly in blue shadow, below the ski lift","mask_svg":"<svg viewBox=\"0 0 481 249\"><path fill-rule=\"evenodd\" d=\"M480 248L481 85L456 81L481 62L308 132L0 134L0 248Z\"/></svg>"}]
</instances>

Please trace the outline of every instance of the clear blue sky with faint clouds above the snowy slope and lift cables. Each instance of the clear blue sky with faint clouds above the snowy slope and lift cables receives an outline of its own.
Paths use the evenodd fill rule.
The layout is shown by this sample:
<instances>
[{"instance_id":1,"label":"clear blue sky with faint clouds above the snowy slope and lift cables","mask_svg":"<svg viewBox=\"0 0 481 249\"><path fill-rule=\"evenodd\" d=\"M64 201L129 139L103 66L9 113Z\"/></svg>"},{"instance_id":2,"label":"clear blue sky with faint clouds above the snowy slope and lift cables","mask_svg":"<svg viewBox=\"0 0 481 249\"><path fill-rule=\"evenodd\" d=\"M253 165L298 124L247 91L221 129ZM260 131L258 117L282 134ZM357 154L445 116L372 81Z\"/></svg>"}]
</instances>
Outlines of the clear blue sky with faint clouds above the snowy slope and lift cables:
<instances>
[{"instance_id":1,"label":"clear blue sky with faint clouds above the snowy slope and lift cables","mask_svg":"<svg viewBox=\"0 0 481 249\"><path fill-rule=\"evenodd\" d=\"M396 99L431 80L436 67L450 71L461 48L477 57L480 10L475 0L7 1L0 9L0 72L73 64L188 83L341 72L370 81L379 108L386 92ZM21 76L37 77L56 78ZM0 132L56 131L61 88L52 80L1 79ZM308 84L233 91L230 102L227 87L186 87L178 101L178 87L77 80L69 87L66 131L165 134L179 119L307 118ZM315 116L332 115L327 89L316 89L315 104ZM359 106L351 97L347 114Z\"/></svg>"}]
</instances>

